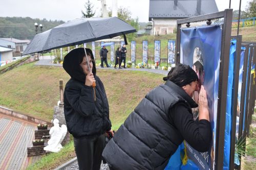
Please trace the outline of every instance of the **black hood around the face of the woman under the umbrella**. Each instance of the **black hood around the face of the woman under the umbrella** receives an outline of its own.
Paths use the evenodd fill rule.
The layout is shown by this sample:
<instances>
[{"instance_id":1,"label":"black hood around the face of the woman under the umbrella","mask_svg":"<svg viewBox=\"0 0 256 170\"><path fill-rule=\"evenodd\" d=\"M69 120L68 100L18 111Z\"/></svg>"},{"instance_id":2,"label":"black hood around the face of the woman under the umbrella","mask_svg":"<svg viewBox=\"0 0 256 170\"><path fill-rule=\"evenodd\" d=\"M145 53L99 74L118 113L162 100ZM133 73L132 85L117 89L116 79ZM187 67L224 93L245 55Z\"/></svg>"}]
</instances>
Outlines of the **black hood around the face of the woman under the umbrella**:
<instances>
[{"instance_id":1,"label":"black hood around the face of the woman under the umbrella","mask_svg":"<svg viewBox=\"0 0 256 170\"><path fill-rule=\"evenodd\" d=\"M92 72L94 77L96 76L96 66L94 61L94 56L92 51L89 48L86 48L87 55L89 54L93 60L93 68ZM66 72L70 75L71 78L80 81L82 83L86 82L86 75L84 74L82 67L80 66L80 63L83 60L83 57L86 56L86 53L84 52L84 48L76 48L69 52L63 61L63 68L66 70Z\"/></svg>"}]
</instances>

